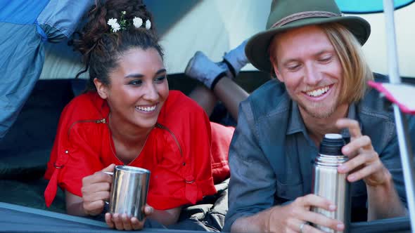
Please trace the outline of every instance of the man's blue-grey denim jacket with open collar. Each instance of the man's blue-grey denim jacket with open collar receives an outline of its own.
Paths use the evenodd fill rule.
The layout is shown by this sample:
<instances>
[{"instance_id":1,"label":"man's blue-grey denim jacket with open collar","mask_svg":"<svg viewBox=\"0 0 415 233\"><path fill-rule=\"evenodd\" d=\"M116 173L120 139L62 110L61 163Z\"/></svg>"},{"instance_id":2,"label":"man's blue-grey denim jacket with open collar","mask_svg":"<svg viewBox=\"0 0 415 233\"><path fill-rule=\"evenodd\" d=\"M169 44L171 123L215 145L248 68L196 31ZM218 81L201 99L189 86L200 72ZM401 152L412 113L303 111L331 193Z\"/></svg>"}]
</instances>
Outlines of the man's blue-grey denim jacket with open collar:
<instances>
[{"instance_id":1,"label":"man's blue-grey denim jacket with open collar","mask_svg":"<svg viewBox=\"0 0 415 233\"><path fill-rule=\"evenodd\" d=\"M385 81L375 74L376 81ZM349 106L348 118L357 119L362 134L371 138L381 161L392 174L395 189L406 204L404 178L393 112L385 110L379 93L370 89L360 102ZM409 118L411 143L415 145L415 119ZM342 131L347 137L348 131ZM229 149L231 179L229 211L224 231L243 216L311 193L312 163L318 149L309 138L298 105L283 84L268 81L241 102L238 126ZM352 213L366 211L366 185L353 182Z\"/></svg>"}]
</instances>

